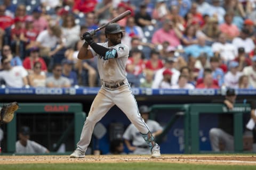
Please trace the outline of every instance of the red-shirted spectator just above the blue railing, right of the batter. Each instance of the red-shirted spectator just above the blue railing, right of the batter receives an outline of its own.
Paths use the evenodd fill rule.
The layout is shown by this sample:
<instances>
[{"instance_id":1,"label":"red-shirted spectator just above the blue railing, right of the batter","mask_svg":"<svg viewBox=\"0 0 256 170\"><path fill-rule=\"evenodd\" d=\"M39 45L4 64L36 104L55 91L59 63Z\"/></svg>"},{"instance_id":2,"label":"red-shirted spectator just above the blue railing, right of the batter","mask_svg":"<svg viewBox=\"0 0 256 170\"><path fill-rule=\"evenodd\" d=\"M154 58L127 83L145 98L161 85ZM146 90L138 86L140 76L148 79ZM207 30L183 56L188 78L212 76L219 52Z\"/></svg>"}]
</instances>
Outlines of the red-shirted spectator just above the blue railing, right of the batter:
<instances>
[{"instance_id":1,"label":"red-shirted spectator just above the blue railing, right of the batter","mask_svg":"<svg viewBox=\"0 0 256 170\"><path fill-rule=\"evenodd\" d=\"M196 85L198 89L219 89L219 86L214 83L212 70L204 69L203 82Z\"/></svg>"}]
</instances>

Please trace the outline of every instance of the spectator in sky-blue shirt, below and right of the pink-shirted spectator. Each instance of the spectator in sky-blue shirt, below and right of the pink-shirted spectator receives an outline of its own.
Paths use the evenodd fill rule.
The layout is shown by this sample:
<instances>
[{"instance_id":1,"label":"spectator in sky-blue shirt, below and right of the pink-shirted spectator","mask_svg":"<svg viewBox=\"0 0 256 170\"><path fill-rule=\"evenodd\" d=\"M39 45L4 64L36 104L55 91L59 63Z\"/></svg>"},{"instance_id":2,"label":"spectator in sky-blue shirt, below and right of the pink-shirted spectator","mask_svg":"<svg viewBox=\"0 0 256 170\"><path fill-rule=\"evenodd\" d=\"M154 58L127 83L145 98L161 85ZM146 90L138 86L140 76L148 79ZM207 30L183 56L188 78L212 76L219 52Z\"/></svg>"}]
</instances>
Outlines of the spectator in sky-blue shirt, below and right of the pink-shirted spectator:
<instances>
[{"instance_id":1,"label":"spectator in sky-blue shirt, below and right of the pink-shirted spectator","mask_svg":"<svg viewBox=\"0 0 256 170\"><path fill-rule=\"evenodd\" d=\"M201 53L206 53L208 56L213 56L212 48L205 44L205 37L198 37L198 44L189 45L184 48L186 55L191 55L197 58Z\"/></svg>"}]
</instances>

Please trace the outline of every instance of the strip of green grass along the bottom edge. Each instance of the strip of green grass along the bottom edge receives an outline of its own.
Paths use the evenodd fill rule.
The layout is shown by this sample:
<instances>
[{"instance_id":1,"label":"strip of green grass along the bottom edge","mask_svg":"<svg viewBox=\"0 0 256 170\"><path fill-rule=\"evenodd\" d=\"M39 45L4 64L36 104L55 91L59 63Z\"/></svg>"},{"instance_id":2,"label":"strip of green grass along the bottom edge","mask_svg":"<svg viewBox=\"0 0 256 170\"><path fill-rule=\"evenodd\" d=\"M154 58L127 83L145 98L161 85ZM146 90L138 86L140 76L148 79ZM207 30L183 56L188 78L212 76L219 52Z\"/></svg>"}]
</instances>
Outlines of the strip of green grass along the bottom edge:
<instances>
[{"instance_id":1,"label":"strip of green grass along the bottom edge","mask_svg":"<svg viewBox=\"0 0 256 170\"><path fill-rule=\"evenodd\" d=\"M33 169L33 170L70 170L70 169L104 169L104 170L132 170L132 169L147 169L147 170L247 170L255 169L255 166L248 165L195 165L195 164L177 164L177 163L77 163L77 164L14 164L0 165L0 169Z\"/></svg>"}]
</instances>

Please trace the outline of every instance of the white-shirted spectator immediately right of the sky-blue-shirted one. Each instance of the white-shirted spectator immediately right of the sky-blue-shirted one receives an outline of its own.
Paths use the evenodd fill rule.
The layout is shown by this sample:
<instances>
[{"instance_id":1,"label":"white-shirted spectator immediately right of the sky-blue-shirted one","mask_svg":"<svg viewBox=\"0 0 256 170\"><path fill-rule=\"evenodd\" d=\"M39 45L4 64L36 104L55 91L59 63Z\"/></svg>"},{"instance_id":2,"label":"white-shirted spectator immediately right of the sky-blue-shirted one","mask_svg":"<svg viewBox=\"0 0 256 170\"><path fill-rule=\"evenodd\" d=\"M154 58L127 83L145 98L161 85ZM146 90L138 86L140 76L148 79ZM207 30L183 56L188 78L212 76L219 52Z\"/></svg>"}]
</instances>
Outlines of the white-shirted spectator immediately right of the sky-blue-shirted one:
<instances>
[{"instance_id":1,"label":"white-shirted spectator immediately right of the sky-blue-shirted one","mask_svg":"<svg viewBox=\"0 0 256 170\"><path fill-rule=\"evenodd\" d=\"M212 44L212 51L213 53L218 52L224 63L234 60L237 55L237 48L233 44L227 43L224 33L220 33L218 41Z\"/></svg>"}]
</instances>

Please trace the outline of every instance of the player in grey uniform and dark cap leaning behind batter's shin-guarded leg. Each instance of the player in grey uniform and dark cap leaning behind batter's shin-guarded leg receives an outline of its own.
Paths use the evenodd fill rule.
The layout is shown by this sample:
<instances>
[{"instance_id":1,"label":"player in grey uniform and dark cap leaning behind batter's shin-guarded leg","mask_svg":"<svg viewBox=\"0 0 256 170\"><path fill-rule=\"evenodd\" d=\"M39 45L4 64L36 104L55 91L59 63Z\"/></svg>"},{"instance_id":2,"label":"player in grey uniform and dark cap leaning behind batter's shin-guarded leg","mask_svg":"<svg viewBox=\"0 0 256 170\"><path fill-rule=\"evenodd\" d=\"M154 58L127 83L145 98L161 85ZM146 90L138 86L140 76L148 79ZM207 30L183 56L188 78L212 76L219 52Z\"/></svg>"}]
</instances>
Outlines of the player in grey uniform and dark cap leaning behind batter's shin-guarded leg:
<instances>
[{"instance_id":1,"label":"player in grey uniform and dark cap leaning behind batter's shin-guarded leg","mask_svg":"<svg viewBox=\"0 0 256 170\"><path fill-rule=\"evenodd\" d=\"M149 119L150 109L146 105L141 105L139 107L139 112L141 118L145 121L148 126L149 131L152 133L153 137L156 138L163 132L162 126L154 121ZM123 139L126 147L129 149L132 154L135 155L149 155L150 149L147 146L147 143L140 135L140 132L135 128L134 124L130 124L123 134Z\"/></svg>"}]
</instances>

